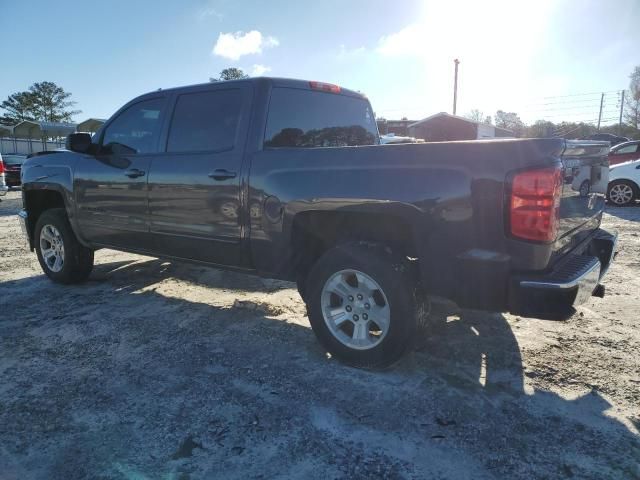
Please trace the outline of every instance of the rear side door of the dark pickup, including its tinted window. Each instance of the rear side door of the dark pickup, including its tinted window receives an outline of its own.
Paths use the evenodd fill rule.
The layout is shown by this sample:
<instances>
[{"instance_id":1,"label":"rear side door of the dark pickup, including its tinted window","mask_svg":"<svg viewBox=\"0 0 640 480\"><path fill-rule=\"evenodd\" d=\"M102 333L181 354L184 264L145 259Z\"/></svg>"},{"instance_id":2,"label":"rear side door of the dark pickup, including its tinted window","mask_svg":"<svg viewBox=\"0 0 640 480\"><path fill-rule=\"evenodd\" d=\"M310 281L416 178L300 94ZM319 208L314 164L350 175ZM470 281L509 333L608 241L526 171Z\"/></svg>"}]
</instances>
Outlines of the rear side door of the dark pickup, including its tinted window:
<instances>
[{"instance_id":1,"label":"rear side door of the dark pickup, including its tinted window","mask_svg":"<svg viewBox=\"0 0 640 480\"><path fill-rule=\"evenodd\" d=\"M150 231L160 255L240 265L251 97L249 82L174 94L164 152L149 175Z\"/></svg>"}]
</instances>

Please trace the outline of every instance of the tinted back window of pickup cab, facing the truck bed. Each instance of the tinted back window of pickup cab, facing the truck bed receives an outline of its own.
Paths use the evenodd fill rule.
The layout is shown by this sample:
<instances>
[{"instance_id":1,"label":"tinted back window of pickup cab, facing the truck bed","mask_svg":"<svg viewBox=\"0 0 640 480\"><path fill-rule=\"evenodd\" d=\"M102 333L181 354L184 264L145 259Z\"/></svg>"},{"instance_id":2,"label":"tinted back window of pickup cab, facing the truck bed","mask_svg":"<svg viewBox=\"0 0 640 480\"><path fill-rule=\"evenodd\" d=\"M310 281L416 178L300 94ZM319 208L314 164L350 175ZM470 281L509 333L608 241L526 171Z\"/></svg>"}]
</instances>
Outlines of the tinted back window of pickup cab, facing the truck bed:
<instances>
[{"instance_id":1,"label":"tinted back window of pickup cab, facing the truck bed","mask_svg":"<svg viewBox=\"0 0 640 480\"><path fill-rule=\"evenodd\" d=\"M274 88L265 147L375 145L378 130L364 98L296 88Z\"/></svg>"}]
</instances>

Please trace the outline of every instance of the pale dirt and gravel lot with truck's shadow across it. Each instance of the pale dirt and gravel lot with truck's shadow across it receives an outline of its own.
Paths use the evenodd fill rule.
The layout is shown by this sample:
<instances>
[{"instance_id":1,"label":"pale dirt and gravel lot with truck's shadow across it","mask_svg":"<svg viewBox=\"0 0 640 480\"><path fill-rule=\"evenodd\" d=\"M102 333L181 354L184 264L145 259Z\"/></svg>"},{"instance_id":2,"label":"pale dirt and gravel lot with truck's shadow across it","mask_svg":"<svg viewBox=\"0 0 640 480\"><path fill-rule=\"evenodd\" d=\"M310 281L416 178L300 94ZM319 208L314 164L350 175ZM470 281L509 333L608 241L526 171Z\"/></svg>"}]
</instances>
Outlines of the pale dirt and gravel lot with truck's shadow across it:
<instances>
[{"instance_id":1,"label":"pale dirt and gravel lot with truck's shadow across it","mask_svg":"<svg viewBox=\"0 0 640 480\"><path fill-rule=\"evenodd\" d=\"M567 322L462 311L385 372L291 284L100 251L60 286L0 203L0 479L640 478L640 207Z\"/></svg>"}]
</instances>

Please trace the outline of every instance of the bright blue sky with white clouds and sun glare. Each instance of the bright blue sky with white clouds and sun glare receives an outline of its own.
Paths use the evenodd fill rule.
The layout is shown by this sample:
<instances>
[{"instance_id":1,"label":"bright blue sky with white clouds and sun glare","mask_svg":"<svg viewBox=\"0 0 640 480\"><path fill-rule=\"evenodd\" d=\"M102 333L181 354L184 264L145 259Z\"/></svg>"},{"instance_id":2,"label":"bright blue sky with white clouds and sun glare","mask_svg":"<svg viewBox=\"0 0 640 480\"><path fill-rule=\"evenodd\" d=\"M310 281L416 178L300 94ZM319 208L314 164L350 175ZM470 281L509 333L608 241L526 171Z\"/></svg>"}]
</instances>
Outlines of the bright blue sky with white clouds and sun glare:
<instances>
[{"instance_id":1,"label":"bright blue sky with white clouds and sun glare","mask_svg":"<svg viewBox=\"0 0 640 480\"><path fill-rule=\"evenodd\" d=\"M336 83L377 116L513 111L617 121L640 64L640 0L0 0L0 99L38 81L86 118L226 67Z\"/></svg>"}]
</instances>

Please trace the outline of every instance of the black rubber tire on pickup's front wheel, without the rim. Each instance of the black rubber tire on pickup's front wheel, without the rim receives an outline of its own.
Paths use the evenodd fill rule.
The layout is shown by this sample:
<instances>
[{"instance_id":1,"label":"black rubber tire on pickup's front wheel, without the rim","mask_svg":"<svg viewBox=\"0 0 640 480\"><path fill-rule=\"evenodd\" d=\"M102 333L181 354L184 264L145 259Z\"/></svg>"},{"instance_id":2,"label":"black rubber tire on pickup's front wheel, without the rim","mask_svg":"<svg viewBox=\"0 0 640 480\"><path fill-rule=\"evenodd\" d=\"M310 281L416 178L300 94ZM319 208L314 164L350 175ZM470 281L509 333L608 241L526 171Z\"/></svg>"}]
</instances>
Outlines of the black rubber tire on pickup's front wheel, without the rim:
<instances>
[{"instance_id":1,"label":"black rubber tire on pickup's front wheel, without the rim","mask_svg":"<svg viewBox=\"0 0 640 480\"><path fill-rule=\"evenodd\" d=\"M40 234L42 229L51 225L60 233L64 248L64 263L60 271L53 271L45 262L42 254ZM93 250L82 245L76 238L64 208L52 208L44 211L36 223L34 246L42 271L56 283L80 283L85 281L93 269Z\"/></svg>"}]
</instances>

